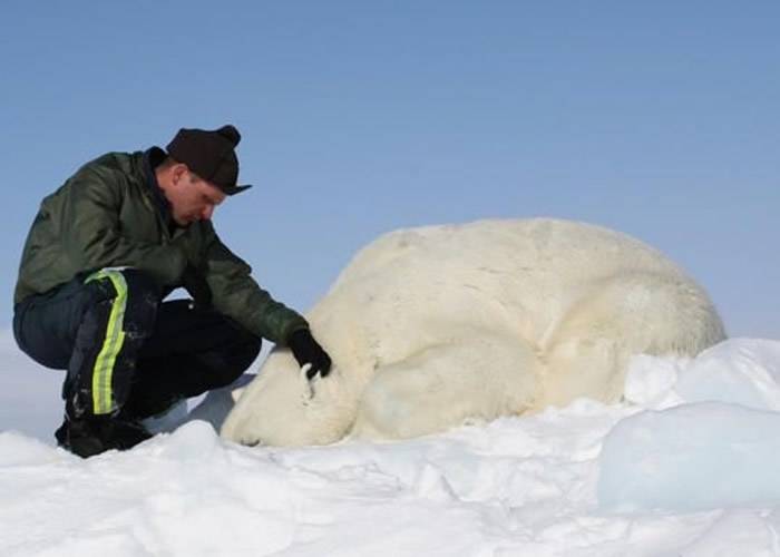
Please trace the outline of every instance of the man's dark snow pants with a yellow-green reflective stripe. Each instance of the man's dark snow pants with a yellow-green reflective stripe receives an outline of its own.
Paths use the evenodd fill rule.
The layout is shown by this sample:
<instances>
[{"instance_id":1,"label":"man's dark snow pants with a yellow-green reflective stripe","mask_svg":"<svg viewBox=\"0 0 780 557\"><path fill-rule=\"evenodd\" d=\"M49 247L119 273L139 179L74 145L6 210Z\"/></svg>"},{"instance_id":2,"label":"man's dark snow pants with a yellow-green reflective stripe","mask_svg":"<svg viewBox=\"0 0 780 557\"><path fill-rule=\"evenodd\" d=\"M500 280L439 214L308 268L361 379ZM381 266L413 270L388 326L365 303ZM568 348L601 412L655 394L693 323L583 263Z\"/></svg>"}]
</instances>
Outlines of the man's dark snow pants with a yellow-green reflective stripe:
<instances>
[{"instance_id":1,"label":"man's dark snow pants with a yellow-green reflective stripe","mask_svg":"<svg viewBox=\"0 0 780 557\"><path fill-rule=\"evenodd\" d=\"M13 333L38 363L67 370L71 418L146 418L232 383L261 346L213 310L162 297L145 273L105 268L17 304Z\"/></svg>"}]
</instances>

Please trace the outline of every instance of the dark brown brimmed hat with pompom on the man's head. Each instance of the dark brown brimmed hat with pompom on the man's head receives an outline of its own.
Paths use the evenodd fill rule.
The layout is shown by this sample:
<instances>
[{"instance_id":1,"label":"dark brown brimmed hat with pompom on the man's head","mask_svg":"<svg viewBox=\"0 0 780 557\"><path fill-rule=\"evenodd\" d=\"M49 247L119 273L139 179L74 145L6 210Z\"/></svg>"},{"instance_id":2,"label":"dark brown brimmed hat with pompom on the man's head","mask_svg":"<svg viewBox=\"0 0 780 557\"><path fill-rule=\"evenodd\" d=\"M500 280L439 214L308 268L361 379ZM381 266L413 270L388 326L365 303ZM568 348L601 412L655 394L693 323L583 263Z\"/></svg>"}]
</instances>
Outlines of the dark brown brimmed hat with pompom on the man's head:
<instances>
[{"instance_id":1,"label":"dark brown brimmed hat with pompom on the man's head","mask_svg":"<svg viewBox=\"0 0 780 557\"><path fill-rule=\"evenodd\" d=\"M238 157L235 147L241 134L231 126L208 131L182 128L166 147L168 155L184 163L206 182L211 182L227 195L234 195L252 186L237 186Z\"/></svg>"}]
</instances>

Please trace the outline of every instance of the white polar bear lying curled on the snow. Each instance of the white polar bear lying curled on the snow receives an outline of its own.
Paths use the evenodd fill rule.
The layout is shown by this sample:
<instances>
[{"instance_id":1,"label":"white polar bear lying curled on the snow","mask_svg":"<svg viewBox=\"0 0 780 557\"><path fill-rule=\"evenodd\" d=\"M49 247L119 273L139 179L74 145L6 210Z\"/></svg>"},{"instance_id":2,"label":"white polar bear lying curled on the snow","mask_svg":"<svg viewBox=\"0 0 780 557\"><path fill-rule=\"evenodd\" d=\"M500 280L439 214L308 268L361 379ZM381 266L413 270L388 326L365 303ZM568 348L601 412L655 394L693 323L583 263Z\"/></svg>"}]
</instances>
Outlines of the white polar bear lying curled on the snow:
<instances>
[{"instance_id":1,"label":"white polar bear lying curled on the snow","mask_svg":"<svg viewBox=\"0 0 780 557\"><path fill-rule=\"evenodd\" d=\"M310 383L274 350L224 438L399 439L578 397L616 401L632 355L693 356L724 338L706 293L663 254L547 218L387 234L308 319L331 374Z\"/></svg>"}]
</instances>

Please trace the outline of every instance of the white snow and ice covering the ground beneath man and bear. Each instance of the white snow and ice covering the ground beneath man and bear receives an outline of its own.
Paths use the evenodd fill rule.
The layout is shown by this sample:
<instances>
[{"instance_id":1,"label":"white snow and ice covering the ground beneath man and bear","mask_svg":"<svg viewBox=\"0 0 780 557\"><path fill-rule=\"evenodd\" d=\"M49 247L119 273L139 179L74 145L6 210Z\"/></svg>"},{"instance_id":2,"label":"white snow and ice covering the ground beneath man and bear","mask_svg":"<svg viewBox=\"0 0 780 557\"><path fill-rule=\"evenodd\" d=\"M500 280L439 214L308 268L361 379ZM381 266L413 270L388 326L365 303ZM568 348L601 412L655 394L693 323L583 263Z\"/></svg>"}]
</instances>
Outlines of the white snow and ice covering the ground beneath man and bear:
<instances>
[{"instance_id":1,"label":"white snow and ice covering the ground beneath man and bear","mask_svg":"<svg viewBox=\"0 0 780 557\"><path fill-rule=\"evenodd\" d=\"M6 430L0 555L780 555L779 379L780 342L735 339L636 358L620 404L409 441L248 448L192 420L81 460Z\"/></svg>"}]
</instances>

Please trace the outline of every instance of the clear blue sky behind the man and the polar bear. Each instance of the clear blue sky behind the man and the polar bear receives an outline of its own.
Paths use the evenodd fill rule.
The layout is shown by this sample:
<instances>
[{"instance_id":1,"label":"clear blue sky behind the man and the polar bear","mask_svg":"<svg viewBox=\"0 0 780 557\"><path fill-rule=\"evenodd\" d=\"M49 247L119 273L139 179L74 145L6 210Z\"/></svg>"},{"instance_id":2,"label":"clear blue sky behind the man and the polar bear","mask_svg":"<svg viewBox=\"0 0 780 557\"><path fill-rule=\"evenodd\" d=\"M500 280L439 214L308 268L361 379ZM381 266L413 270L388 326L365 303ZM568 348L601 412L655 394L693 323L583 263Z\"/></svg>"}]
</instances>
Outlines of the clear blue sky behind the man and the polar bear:
<instances>
[{"instance_id":1,"label":"clear blue sky behind the man and the polar bear","mask_svg":"<svg viewBox=\"0 0 780 557\"><path fill-rule=\"evenodd\" d=\"M305 310L382 232L603 224L732 334L780 338L780 2L37 2L0 8L0 328L41 197L108 150L235 124L215 217Z\"/></svg>"}]
</instances>

